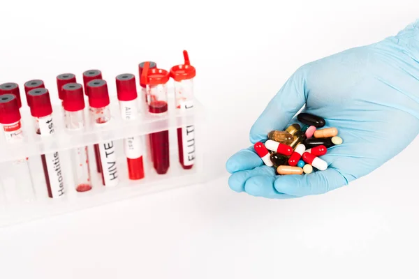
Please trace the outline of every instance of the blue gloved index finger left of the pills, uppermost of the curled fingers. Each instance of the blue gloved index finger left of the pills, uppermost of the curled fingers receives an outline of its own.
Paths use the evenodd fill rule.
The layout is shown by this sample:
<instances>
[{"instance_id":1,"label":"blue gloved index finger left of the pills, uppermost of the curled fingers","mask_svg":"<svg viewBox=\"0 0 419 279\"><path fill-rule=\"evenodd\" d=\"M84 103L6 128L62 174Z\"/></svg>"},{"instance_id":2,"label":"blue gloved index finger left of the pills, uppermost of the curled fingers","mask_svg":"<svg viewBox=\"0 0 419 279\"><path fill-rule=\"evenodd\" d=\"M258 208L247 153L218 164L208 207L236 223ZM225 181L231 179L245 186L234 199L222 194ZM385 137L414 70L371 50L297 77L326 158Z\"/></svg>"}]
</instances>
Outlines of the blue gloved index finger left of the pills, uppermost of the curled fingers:
<instances>
[{"instance_id":1,"label":"blue gloved index finger left of the pills, uppermost of the curled fingers","mask_svg":"<svg viewBox=\"0 0 419 279\"><path fill-rule=\"evenodd\" d=\"M255 153L253 146L242 149L231 156L226 163L226 169L230 174L246 169L254 169L263 165L262 159Z\"/></svg>"}]
</instances>

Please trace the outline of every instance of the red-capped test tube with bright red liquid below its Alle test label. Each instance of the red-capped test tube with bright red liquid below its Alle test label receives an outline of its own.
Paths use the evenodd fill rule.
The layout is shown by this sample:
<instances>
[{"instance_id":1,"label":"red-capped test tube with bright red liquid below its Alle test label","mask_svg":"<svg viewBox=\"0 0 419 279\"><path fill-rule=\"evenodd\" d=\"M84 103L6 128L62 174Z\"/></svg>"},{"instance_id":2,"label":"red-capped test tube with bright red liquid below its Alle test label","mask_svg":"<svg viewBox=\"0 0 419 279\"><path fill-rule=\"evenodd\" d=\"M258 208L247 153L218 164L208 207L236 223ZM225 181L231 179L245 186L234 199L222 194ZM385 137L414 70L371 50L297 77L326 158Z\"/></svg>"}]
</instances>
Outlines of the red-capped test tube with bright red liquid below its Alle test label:
<instances>
[{"instance_id":1,"label":"red-capped test tube with bright red liquid below its Alle test label","mask_svg":"<svg viewBox=\"0 0 419 279\"><path fill-rule=\"evenodd\" d=\"M119 111L122 119L126 121L138 118L137 87L132 74L122 74L116 77ZM128 177L131 180L144 178L144 165L142 162L142 141L140 136L124 139L126 163L128 164Z\"/></svg>"}]
</instances>

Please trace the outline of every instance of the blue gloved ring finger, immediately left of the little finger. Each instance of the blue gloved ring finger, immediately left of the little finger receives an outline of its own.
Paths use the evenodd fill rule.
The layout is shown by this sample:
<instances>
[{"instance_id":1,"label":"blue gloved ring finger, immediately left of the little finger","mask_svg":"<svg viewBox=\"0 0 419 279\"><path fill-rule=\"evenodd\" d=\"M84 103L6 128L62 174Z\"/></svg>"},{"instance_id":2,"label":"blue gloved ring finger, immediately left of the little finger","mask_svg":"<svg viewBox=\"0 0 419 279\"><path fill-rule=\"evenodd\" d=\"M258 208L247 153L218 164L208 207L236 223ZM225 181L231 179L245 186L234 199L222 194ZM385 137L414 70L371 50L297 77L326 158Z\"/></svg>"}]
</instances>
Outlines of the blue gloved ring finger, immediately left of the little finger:
<instances>
[{"instance_id":1,"label":"blue gloved ring finger, immediately left of the little finger","mask_svg":"<svg viewBox=\"0 0 419 279\"><path fill-rule=\"evenodd\" d=\"M257 175L247 179L244 183L244 191L255 197L265 197L268 199L292 199L295 196L278 193L274 188L277 176Z\"/></svg>"}]
</instances>

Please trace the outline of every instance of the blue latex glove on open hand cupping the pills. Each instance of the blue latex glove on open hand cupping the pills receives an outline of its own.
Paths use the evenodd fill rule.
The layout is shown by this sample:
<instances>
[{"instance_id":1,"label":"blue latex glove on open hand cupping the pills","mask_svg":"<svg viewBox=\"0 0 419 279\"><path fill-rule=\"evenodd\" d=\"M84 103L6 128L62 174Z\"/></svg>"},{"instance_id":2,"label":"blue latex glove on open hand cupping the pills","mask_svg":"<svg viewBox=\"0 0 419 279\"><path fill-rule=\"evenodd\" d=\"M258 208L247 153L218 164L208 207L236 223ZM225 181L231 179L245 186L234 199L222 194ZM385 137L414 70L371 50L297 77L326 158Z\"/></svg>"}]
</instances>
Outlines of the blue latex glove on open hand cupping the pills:
<instances>
[{"instance_id":1,"label":"blue latex glove on open hand cupping the pills","mask_svg":"<svg viewBox=\"0 0 419 279\"><path fill-rule=\"evenodd\" d=\"M346 186L402 151L419 133L419 20L397 36L356 47L299 68L253 124L250 140L298 123L304 112L322 116L344 143L322 156L329 167L277 176L253 146L226 163L236 192L269 198L318 195Z\"/></svg>"}]
</instances>

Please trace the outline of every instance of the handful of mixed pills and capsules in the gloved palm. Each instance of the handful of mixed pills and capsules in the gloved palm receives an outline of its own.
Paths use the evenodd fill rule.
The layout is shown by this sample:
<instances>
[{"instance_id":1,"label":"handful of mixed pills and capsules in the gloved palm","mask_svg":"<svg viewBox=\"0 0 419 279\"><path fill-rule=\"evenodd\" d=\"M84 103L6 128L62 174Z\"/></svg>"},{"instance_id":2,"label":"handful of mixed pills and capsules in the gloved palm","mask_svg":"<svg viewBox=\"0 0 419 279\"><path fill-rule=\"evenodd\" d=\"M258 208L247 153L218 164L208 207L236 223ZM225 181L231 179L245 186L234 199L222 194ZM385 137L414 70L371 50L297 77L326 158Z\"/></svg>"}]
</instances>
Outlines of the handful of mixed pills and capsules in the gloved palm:
<instances>
[{"instance_id":1,"label":"handful of mixed pills and capsules in the gloved palm","mask_svg":"<svg viewBox=\"0 0 419 279\"><path fill-rule=\"evenodd\" d=\"M337 128L322 128L325 119L308 113L297 115L302 127L294 123L286 130L273 130L263 144L256 142L254 149L263 163L277 169L278 174L310 174L313 169L325 170L328 163L320 157L331 146L342 144Z\"/></svg>"}]
</instances>

